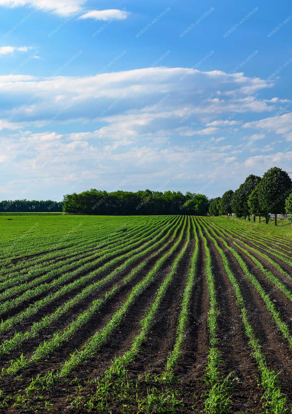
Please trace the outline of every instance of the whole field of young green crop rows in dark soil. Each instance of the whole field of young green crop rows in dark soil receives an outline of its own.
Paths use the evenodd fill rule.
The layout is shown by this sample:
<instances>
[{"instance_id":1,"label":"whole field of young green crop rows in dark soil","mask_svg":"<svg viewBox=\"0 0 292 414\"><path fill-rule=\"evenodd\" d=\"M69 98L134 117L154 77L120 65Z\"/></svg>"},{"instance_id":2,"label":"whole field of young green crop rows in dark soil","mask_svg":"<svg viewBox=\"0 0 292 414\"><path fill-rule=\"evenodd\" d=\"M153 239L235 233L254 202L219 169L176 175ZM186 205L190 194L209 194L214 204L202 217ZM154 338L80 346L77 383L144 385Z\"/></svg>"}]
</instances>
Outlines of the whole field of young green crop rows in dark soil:
<instances>
[{"instance_id":1,"label":"whole field of young green crop rows in dark soil","mask_svg":"<svg viewBox=\"0 0 292 414\"><path fill-rule=\"evenodd\" d=\"M291 412L291 238L241 223L0 216L0 412Z\"/></svg>"}]
</instances>

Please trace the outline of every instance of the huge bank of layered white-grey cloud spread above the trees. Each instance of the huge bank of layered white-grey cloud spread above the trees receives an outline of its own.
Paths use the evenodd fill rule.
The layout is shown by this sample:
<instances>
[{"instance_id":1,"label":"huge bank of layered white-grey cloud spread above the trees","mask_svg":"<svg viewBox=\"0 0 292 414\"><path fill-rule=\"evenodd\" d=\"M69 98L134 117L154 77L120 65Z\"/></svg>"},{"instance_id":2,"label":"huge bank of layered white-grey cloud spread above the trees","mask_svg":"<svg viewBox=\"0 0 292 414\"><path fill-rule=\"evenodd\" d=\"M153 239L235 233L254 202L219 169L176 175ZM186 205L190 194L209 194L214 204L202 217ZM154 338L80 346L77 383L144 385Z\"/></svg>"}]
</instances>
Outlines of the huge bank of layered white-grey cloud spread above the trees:
<instances>
[{"instance_id":1,"label":"huge bank of layered white-grey cloud spread above the trees","mask_svg":"<svg viewBox=\"0 0 292 414\"><path fill-rule=\"evenodd\" d=\"M144 183L158 188L166 179L172 188L176 183L181 188L179 177L184 177L186 189L193 188L194 179L206 180L199 188L210 179L234 186L234 176L250 173L255 146L261 156L273 148L267 146L268 131L258 131L254 124L247 133L242 125L260 112L266 120L283 103L250 95L253 78L237 74L227 82L224 72L192 70L183 82L186 70L150 67L87 77L0 76L0 153L5 154L0 168L7 171L9 166L19 183L25 175L47 187L56 181L65 185L83 180L85 189L94 178L109 190L121 179L127 180L128 189ZM265 82L256 83L266 87ZM292 129L285 133L292 137ZM254 172L261 174L263 165L254 162ZM11 185L14 193L18 185Z\"/></svg>"}]
</instances>

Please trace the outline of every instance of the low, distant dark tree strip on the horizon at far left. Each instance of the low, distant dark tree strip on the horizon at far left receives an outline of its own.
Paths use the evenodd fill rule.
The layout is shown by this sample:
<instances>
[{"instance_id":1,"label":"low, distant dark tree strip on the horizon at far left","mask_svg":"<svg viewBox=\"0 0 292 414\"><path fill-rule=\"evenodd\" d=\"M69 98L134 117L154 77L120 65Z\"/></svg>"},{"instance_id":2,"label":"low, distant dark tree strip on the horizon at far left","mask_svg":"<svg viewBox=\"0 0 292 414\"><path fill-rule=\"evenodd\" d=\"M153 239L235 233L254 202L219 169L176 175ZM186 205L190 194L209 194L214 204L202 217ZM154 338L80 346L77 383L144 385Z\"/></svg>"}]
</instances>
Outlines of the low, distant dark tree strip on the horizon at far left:
<instances>
[{"instance_id":1,"label":"low, distant dark tree strip on the horizon at far left","mask_svg":"<svg viewBox=\"0 0 292 414\"><path fill-rule=\"evenodd\" d=\"M62 212L63 202L52 201L52 200L4 200L0 201L0 212L1 213L36 213L36 212Z\"/></svg>"}]
</instances>

